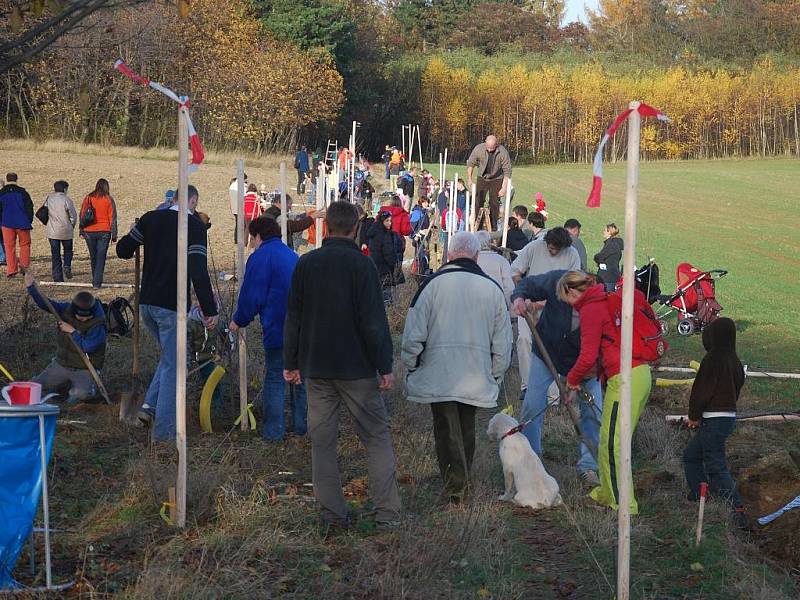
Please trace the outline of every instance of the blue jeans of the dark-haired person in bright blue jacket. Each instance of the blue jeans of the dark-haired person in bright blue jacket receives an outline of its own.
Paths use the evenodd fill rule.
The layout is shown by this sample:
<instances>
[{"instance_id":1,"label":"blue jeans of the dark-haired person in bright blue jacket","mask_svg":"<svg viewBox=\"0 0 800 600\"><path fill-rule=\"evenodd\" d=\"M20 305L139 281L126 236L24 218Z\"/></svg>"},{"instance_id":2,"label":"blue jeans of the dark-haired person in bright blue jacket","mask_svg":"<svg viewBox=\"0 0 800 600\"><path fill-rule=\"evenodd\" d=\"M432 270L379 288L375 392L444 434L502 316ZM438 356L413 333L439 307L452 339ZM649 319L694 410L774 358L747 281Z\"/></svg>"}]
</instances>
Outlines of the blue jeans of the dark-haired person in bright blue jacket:
<instances>
[{"instance_id":1,"label":"blue jeans of the dark-haired person in bright blue jacket","mask_svg":"<svg viewBox=\"0 0 800 600\"><path fill-rule=\"evenodd\" d=\"M283 379L283 348L264 348L266 368L264 389L261 392L262 421L261 436L273 442L281 441L286 431L284 424L284 394L286 382ZM298 435L308 431L306 388L300 385L289 388L291 394L292 430Z\"/></svg>"}]
</instances>

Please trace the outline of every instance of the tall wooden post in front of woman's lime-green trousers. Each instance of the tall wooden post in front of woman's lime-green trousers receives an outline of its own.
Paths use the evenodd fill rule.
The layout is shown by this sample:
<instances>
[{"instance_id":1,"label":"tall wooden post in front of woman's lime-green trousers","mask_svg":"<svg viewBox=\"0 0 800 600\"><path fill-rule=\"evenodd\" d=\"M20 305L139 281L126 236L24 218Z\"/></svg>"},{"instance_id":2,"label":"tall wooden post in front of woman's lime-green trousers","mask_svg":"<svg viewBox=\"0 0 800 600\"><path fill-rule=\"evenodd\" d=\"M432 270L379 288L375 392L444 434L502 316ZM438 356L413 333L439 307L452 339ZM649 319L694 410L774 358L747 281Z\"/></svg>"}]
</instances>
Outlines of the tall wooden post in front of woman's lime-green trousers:
<instances>
[{"instance_id":1,"label":"tall wooden post in front of woman's lime-green trousers","mask_svg":"<svg viewBox=\"0 0 800 600\"><path fill-rule=\"evenodd\" d=\"M622 257L622 348L620 350L619 459L617 484L617 598L630 599L631 559L631 371L633 352L633 290L636 258L636 209L639 188L639 141L642 117L639 102L629 105L628 163L625 187L625 251Z\"/></svg>"}]
</instances>

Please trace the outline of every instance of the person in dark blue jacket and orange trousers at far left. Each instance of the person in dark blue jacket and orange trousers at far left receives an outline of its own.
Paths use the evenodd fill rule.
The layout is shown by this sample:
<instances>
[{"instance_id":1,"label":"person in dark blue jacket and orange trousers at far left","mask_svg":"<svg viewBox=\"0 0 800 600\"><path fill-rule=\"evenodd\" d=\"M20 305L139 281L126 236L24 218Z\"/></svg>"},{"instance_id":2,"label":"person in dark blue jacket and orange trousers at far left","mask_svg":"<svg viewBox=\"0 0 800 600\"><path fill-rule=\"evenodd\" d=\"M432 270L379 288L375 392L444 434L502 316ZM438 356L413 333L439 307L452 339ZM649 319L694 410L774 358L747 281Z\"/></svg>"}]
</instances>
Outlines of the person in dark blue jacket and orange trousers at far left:
<instances>
[{"instance_id":1,"label":"person in dark blue jacket and orange trousers at far left","mask_svg":"<svg viewBox=\"0 0 800 600\"><path fill-rule=\"evenodd\" d=\"M6 273L14 277L19 267L31 266L31 229L33 229L33 201L25 188L17 185L17 174L8 173L6 184L0 189L0 224L3 229ZM19 240L19 261L17 260Z\"/></svg>"}]
</instances>

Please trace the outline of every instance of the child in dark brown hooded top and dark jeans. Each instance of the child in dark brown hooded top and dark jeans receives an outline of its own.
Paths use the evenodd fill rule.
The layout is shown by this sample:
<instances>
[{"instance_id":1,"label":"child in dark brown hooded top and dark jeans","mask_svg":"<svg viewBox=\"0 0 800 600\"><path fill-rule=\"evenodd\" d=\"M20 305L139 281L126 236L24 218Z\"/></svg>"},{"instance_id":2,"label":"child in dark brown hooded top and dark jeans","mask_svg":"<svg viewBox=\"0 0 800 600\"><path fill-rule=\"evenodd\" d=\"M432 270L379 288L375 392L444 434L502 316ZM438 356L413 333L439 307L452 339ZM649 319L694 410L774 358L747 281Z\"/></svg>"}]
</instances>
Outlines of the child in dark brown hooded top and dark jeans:
<instances>
[{"instance_id":1,"label":"child in dark brown hooded top and dark jeans","mask_svg":"<svg viewBox=\"0 0 800 600\"><path fill-rule=\"evenodd\" d=\"M713 496L734 509L737 526L749 522L725 460L725 442L736 428L736 401L744 385L744 368L736 355L736 325L721 317L703 330L707 354L689 397L689 427L696 429L683 451L683 468L689 499L699 498L700 483L707 482Z\"/></svg>"}]
</instances>

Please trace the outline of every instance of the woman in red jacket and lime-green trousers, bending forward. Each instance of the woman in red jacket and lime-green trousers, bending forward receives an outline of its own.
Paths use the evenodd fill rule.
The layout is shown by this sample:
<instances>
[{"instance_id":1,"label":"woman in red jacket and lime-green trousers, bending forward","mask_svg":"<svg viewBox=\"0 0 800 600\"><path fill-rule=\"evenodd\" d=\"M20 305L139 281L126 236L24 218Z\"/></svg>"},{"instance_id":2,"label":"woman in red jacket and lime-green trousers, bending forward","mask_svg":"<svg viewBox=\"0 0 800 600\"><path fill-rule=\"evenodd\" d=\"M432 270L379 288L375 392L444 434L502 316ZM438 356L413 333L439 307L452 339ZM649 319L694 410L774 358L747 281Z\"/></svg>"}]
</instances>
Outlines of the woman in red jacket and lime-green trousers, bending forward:
<instances>
[{"instance_id":1,"label":"woman in red jacket and lime-green trousers, bending forward","mask_svg":"<svg viewBox=\"0 0 800 600\"><path fill-rule=\"evenodd\" d=\"M578 311L581 323L581 353L575 366L567 373L567 387L580 389L581 381L599 371L606 381L603 395L603 417L600 424L600 445L597 448L600 485L590 496L599 504L618 508L619 501L619 394L620 394L620 336L611 321L605 286L593 275L580 271L565 273L558 282L559 297ZM650 397L652 378L650 365L633 361L631 371L631 434L636 430L639 416ZM631 481L631 513L638 514L639 505Z\"/></svg>"}]
</instances>

